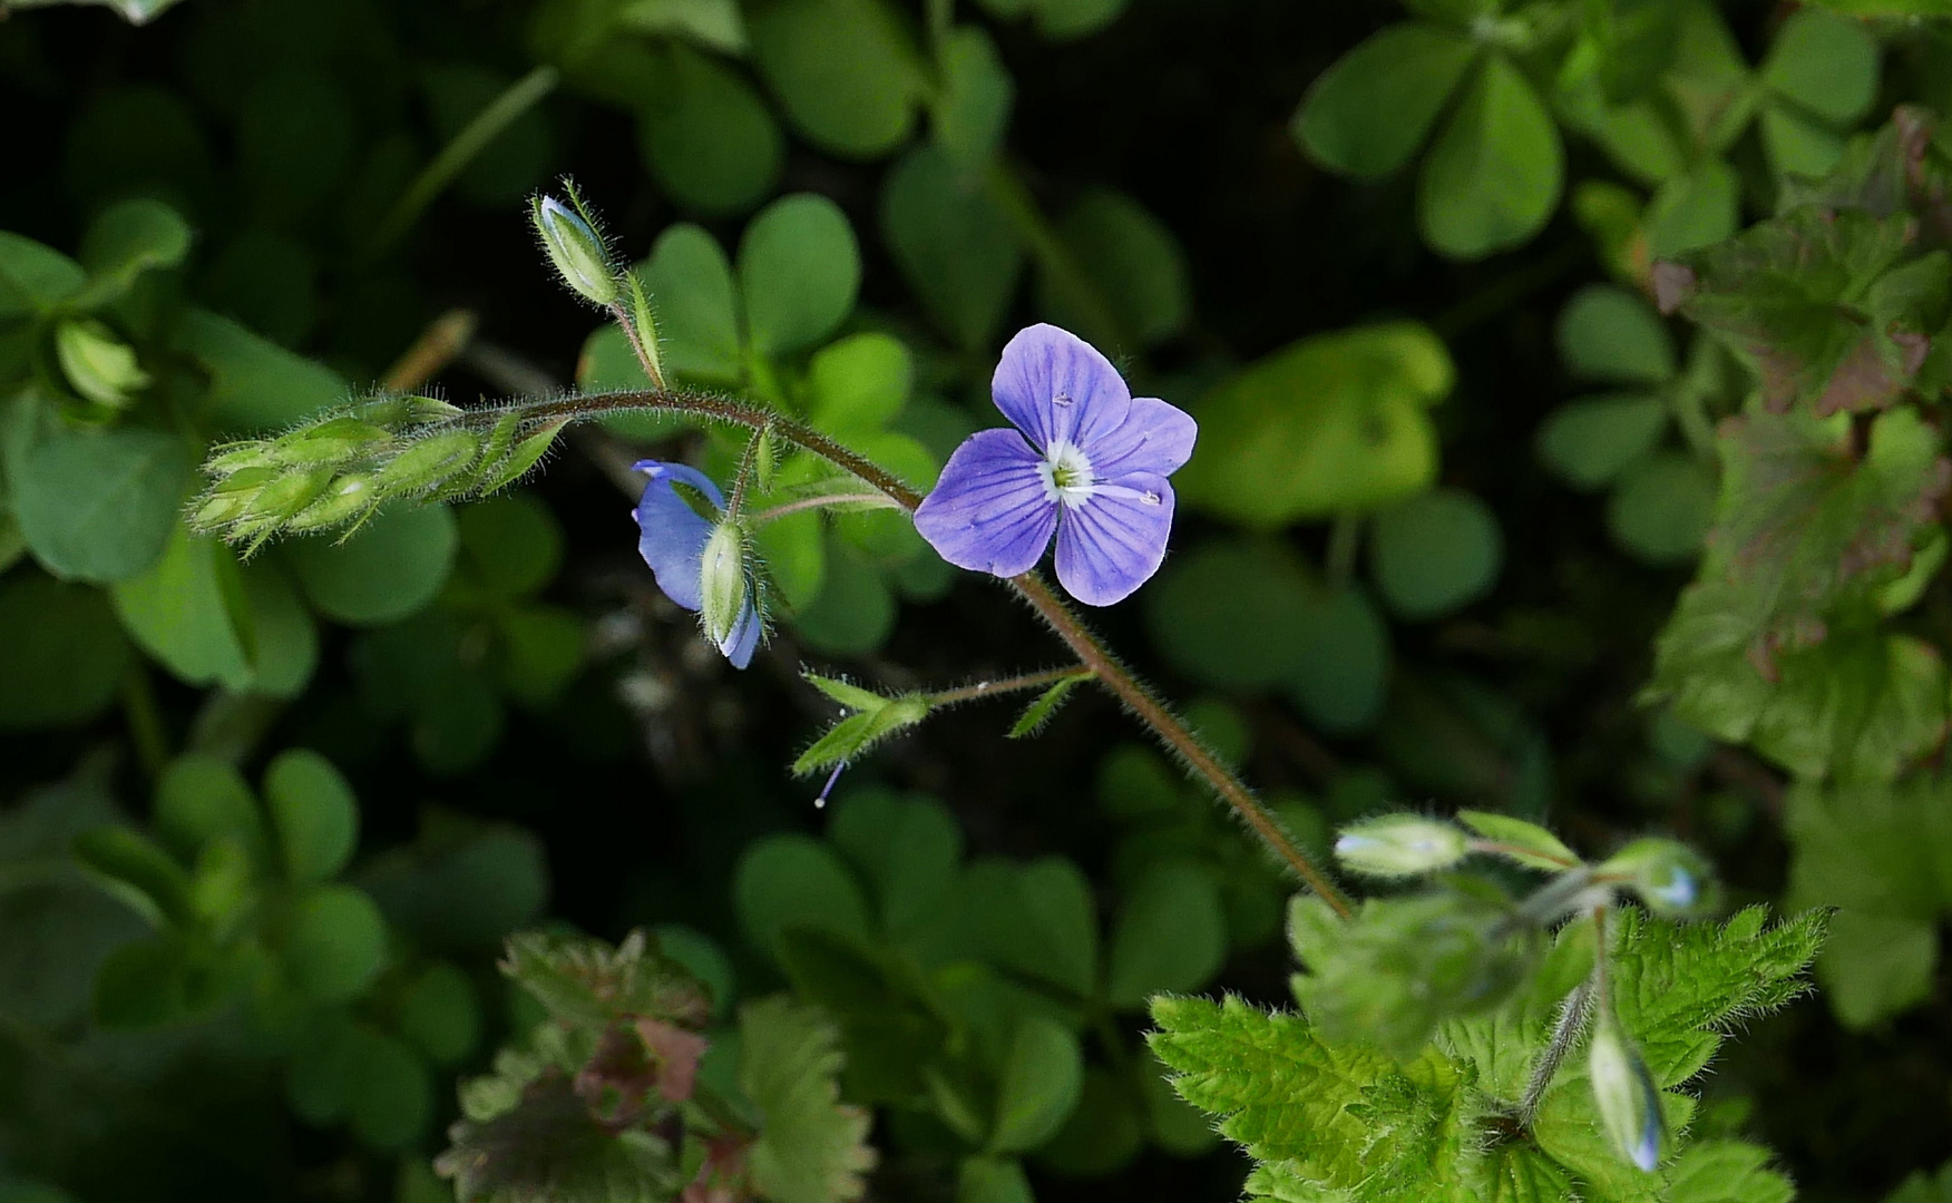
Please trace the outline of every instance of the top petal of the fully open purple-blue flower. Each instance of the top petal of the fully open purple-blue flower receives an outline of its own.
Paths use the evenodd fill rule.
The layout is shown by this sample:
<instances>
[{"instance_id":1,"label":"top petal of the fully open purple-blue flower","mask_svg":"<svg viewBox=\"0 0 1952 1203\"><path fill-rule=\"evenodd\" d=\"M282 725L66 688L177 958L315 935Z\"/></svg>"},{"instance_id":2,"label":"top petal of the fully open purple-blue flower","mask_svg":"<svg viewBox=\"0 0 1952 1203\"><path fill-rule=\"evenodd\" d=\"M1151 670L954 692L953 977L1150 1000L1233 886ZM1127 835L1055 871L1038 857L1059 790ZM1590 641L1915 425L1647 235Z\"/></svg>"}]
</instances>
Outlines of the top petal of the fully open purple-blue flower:
<instances>
[{"instance_id":1,"label":"top petal of the fully open purple-blue flower","mask_svg":"<svg viewBox=\"0 0 1952 1203\"><path fill-rule=\"evenodd\" d=\"M1038 451L1052 443L1091 447L1124 426L1132 410L1132 391L1111 359L1050 324L1029 326L1009 340L990 393Z\"/></svg>"}]
</instances>

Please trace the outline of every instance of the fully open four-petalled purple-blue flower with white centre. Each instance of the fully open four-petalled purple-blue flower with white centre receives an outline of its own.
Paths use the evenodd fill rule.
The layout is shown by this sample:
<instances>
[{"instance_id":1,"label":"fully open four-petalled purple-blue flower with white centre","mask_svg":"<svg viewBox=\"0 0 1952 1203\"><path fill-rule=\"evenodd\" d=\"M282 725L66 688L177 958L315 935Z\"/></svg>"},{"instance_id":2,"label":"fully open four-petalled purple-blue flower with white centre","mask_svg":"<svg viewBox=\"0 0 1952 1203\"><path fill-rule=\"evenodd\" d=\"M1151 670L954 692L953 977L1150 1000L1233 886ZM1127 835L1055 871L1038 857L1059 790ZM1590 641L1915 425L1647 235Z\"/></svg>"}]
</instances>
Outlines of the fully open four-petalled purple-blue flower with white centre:
<instances>
[{"instance_id":1,"label":"fully open four-petalled purple-blue flower with white centre","mask_svg":"<svg viewBox=\"0 0 1952 1203\"><path fill-rule=\"evenodd\" d=\"M915 529L960 568L1017 576L1058 535L1058 580L1111 605L1159 570L1173 486L1199 426L1156 396L1132 396L1091 344L1031 326L1003 348L990 385L1017 430L972 434L943 467Z\"/></svg>"}]
</instances>

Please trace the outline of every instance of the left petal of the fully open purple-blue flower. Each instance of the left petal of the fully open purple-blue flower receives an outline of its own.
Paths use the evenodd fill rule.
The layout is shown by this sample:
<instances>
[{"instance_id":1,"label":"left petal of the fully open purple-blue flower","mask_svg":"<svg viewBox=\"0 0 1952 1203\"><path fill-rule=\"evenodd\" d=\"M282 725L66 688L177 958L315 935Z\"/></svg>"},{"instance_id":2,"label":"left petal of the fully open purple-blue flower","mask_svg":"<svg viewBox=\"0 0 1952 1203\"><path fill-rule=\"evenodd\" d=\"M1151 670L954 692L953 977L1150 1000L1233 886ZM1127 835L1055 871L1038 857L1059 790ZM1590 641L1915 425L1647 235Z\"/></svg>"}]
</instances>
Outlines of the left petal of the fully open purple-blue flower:
<instances>
[{"instance_id":1,"label":"left petal of the fully open purple-blue flower","mask_svg":"<svg viewBox=\"0 0 1952 1203\"><path fill-rule=\"evenodd\" d=\"M915 510L915 531L958 568L1029 572L1058 523L1040 463L1015 430L978 430L943 465L935 490Z\"/></svg>"}]
</instances>

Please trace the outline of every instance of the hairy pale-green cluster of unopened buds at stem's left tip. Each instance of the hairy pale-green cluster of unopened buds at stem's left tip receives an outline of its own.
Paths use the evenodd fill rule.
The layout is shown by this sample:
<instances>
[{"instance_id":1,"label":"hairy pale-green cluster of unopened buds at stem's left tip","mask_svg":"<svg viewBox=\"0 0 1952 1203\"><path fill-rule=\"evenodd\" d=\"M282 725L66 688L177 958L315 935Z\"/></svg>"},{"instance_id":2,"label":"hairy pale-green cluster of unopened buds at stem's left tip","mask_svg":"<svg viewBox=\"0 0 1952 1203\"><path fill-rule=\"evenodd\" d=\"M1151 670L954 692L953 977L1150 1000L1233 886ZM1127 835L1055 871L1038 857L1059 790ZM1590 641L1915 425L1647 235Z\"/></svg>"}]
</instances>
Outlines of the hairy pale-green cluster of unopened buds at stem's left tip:
<instances>
[{"instance_id":1,"label":"hairy pale-green cluster of unopened buds at stem's left tip","mask_svg":"<svg viewBox=\"0 0 1952 1203\"><path fill-rule=\"evenodd\" d=\"M431 396L390 396L277 437L217 447L189 525L230 543L357 527L396 498L480 496L513 484L564 420L502 412L492 426Z\"/></svg>"}]
</instances>

